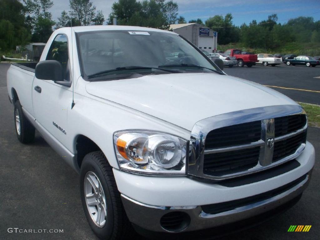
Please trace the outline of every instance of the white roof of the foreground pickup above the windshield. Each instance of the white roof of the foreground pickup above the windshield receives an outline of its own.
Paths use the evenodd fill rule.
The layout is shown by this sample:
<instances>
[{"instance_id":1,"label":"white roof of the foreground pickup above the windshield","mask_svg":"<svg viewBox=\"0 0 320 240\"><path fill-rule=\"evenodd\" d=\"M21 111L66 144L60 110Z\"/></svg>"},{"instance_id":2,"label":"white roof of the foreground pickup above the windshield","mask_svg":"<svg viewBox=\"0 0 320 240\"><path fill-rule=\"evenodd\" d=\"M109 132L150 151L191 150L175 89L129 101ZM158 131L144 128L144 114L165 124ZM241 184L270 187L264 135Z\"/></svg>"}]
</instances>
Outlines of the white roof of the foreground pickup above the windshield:
<instances>
[{"instance_id":1,"label":"white roof of the foreground pickup above the windshield","mask_svg":"<svg viewBox=\"0 0 320 240\"><path fill-rule=\"evenodd\" d=\"M57 30L67 30L71 27L59 28ZM90 32L90 31L112 31L112 30L128 30L128 31L154 31L154 32L165 32L176 34L171 31L161 30L157 28L146 28L146 27L137 27L137 26L119 26L119 25L99 25L99 26L79 26L72 27L75 32Z\"/></svg>"}]
</instances>

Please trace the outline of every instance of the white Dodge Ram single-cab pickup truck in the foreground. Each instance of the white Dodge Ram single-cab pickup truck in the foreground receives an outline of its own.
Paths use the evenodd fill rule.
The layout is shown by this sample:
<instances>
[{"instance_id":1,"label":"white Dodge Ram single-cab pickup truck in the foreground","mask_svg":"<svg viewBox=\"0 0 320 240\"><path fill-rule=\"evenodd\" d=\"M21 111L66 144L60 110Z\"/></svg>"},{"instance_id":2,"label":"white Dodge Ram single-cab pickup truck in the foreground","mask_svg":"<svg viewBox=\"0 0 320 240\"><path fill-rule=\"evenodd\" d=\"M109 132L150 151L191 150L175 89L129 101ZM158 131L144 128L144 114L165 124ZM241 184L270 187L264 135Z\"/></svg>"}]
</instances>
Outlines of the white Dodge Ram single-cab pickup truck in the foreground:
<instances>
[{"instance_id":1,"label":"white Dodge Ram single-cab pickup truck in the foreground","mask_svg":"<svg viewBox=\"0 0 320 240\"><path fill-rule=\"evenodd\" d=\"M212 236L281 212L315 163L300 105L227 76L170 31L58 29L39 63L11 65L7 86L18 140L36 129L80 174L85 216L103 239L133 228Z\"/></svg>"}]
</instances>

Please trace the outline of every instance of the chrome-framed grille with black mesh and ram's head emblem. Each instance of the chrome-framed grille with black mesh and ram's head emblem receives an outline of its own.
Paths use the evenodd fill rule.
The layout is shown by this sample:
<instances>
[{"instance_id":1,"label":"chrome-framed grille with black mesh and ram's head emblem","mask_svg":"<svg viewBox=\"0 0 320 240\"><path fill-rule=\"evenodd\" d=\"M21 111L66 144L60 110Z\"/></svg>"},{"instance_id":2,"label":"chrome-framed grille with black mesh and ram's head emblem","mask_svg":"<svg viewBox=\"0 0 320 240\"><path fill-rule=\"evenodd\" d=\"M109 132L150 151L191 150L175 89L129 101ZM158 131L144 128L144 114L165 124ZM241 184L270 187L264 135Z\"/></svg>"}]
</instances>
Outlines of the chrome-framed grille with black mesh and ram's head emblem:
<instances>
[{"instance_id":1,"label":"chrome-framed grille with black mesh and ram's head emblem","mask_svg":"<svg viewBox=\"0 0 320 240\"><path fill-rule=\"evenodd\" d=\"M268 169L297 157L306 131L305 112L295 105L205 119L191 134L188 173L221 180Z\"/></svg>"}]
</instances>

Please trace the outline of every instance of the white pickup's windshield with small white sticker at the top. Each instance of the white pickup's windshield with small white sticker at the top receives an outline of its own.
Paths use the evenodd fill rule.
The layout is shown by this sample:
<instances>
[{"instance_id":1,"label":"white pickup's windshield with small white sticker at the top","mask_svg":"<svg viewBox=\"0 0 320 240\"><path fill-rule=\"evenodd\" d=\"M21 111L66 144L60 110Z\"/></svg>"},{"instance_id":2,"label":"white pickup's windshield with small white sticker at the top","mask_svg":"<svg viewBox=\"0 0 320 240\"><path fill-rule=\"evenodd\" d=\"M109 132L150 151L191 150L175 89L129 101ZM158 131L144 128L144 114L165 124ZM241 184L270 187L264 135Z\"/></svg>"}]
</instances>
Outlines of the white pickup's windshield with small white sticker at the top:
<instances>
[{"instance_id":1,"label":"white pickup's windshield with small white sticker at the top","mask_svg":"<svg viewBox=\"0 0 320 240\"><path fill-rule=\"evenodd\" d=\"M176 34L156 31L78 33L82 70L88 78L137 72L221 72Z\"/></svg>"}]
</instances>

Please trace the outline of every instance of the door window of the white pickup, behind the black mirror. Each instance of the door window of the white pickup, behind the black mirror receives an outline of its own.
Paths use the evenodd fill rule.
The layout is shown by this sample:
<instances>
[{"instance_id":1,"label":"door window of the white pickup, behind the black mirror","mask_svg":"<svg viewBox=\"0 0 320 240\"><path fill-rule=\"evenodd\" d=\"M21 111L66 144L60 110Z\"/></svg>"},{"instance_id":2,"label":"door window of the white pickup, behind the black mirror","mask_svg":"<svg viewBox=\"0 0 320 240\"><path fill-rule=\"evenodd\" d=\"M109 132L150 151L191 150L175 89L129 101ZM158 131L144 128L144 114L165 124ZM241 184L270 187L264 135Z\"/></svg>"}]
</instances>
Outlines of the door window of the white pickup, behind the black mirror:
<instances>
[{"instance_id":1,"label":"door window of the white pickup, behind the black mirror","mask_svg":"<svg viewBox=\"0 0 320 240\"><path fill-rule=\"evenodd\" d=\"M68 39L65 35L57 35L48 52L46 60L56 60L61 63L64 79L69 80L69 54L68 54Z\"/></svg>"}]
</instances>

